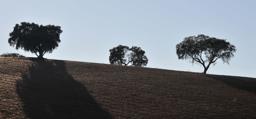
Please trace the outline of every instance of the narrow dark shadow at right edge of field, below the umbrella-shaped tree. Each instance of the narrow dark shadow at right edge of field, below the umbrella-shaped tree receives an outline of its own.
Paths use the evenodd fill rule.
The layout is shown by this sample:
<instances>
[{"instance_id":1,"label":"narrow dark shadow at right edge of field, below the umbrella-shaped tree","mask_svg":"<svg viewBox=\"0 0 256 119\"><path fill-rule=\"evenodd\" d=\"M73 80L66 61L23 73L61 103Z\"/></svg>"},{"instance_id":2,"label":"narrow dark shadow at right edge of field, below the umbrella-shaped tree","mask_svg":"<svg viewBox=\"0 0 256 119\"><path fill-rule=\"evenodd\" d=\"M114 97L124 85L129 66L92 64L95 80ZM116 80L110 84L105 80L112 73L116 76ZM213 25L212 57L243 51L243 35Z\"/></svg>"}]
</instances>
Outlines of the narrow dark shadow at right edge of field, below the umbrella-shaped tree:
<instances>
[{"instance_id":1,"label":"narrow dark shadow at right edge of field, below the umbrella-shaped tree","mask_svg":"<svg viewBox=\"0 0 256 119\"><path fill-rule=\"evenodd\" d=\"M256 78L238 77L238 76L223 76L223 75L206 75L209 78L221 81L229 86L240 90L247 90L256 93Z\"/></svg>"}]
</instances>

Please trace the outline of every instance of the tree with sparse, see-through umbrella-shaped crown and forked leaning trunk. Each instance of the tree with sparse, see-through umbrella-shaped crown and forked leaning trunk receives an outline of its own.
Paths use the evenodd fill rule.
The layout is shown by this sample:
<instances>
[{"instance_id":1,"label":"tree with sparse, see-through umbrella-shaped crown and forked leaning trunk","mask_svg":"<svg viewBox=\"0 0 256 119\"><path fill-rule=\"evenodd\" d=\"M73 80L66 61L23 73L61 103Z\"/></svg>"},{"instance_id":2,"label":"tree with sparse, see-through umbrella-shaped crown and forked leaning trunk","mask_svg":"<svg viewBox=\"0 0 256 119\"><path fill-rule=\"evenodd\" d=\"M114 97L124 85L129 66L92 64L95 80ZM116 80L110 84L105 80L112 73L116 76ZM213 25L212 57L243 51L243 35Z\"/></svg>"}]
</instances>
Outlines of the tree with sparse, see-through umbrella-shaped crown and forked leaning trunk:
<instances>
[{"instance_id":1,"label":"tree with sparse, see-through umbrella-shaped crown and forked leaning trunk","mask_svg":"<svg viewBox=\"0 0 256 119\"><path fill-rule=\"evenodd\" d=\"M203 65L204 73L207 72L211 64L215 65L219 58L223 63L229 64L235 52L236 47L226 40L210 38L206 35L186 37L180 44L176 45L178 58L189 60L192 64L197 62Z\"/></svg>"}]
</instances>

